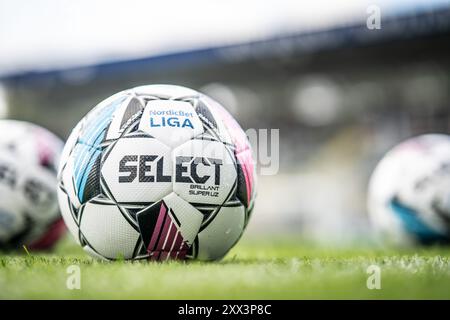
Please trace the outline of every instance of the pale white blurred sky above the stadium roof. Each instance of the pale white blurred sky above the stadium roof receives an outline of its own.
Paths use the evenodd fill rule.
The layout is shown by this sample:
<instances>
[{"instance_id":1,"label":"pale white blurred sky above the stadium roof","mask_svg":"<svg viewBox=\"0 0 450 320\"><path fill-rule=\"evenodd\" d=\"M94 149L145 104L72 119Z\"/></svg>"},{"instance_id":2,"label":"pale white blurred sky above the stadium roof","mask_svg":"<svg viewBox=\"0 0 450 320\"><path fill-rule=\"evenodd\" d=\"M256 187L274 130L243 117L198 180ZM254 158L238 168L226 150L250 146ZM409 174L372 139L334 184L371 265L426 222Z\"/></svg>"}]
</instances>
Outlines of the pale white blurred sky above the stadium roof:
<instances>
[{"instance_id":1,"label":"pale white blurred sky above the stadium roof","mask_svg":"<svg viewBox=\"0 0 450 320\"><path fill-rule=\"evenodd\" d=\"M330 28L450 0L0 0L0 75Z\"/></svg>"}]
</instances>

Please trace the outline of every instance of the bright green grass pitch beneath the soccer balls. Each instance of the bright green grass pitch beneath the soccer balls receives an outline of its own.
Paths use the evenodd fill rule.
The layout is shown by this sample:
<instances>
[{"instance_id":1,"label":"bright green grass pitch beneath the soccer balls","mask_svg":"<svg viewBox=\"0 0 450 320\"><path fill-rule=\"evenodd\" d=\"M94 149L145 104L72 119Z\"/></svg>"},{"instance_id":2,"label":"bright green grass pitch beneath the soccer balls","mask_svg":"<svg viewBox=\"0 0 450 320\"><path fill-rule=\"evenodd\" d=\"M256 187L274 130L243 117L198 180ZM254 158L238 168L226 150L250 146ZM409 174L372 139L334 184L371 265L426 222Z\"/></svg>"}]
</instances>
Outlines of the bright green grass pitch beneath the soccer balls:
<instances>
[{"instance_id":1,"label":"bright green grass pitch beneath the soccer balls","mask_svg":"<svg viewBox=\"0 0 450 320\"><path fill-rule=\"evenodd\" d=\"M68 290L76 264L81 289ZM366 286L381 268L381 289ZM0 254L0 298L14 299L450 299L450 249L336 249L301 239L242 239L214 263L101 262L72 244Z\"/></svg>"}]
</instances>

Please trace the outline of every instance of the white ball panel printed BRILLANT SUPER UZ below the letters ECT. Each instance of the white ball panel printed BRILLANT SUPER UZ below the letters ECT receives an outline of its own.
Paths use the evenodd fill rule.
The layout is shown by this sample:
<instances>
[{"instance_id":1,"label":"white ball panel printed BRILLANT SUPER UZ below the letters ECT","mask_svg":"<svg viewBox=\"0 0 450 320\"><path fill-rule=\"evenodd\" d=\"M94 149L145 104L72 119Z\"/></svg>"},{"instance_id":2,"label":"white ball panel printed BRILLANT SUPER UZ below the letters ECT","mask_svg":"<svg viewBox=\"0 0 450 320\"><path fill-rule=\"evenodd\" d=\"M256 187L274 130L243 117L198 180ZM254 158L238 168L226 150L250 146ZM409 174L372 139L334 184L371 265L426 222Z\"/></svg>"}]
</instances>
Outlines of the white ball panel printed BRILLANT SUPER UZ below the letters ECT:
<instances>
[{"instance_id":1,"label":"white ball panel printed BRILLANT SUPER UZ below the letters ECT","mask_svg":"<svg viewBox=\"0 0 450 320\"><path fill-rule=\"evenodd\" d=\"M172 151L173 190L196 204L221 205L236 186L236 164L217 141L190 140Z\"/></svg>"}]
</instances>

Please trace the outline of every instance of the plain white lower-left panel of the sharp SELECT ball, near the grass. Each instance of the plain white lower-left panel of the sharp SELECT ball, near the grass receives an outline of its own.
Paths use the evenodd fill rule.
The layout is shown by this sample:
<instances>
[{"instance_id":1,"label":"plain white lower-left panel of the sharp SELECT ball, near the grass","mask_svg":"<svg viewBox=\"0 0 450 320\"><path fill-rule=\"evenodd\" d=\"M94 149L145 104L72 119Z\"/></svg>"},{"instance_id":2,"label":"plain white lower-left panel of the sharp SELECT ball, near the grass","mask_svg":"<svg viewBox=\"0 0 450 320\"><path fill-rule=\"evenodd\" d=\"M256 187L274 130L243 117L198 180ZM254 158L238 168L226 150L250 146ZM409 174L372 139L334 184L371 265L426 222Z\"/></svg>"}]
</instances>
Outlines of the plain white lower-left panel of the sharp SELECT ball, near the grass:
<instances>
[{"instance_id":1,"label":"plain white lower-left panel of the sharp SELECT ball, near the grass","mask_svg":"<svg viewBox=\"0 0 450 320\"><path fill-rule=\"evenodd\" d=\"M116 205L90 202L83 208L80 231L88 244L108 259L133 258L139 233L122 216Z\"/></svg>"}]
</instances>

